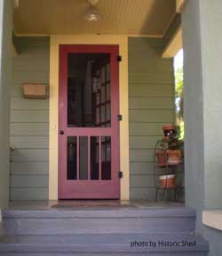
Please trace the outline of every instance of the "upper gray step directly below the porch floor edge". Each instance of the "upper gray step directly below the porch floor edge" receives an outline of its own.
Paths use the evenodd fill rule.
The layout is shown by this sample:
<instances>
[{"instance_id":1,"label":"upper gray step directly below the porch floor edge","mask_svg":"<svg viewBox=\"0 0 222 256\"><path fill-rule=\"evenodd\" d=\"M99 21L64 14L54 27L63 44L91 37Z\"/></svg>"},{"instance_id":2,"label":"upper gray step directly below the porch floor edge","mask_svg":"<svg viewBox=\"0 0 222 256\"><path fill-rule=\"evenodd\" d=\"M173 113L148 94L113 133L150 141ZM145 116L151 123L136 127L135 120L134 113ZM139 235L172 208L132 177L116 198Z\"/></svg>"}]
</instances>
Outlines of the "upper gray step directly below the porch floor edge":
<instances>
[{"instance_id":1,"label":"upper gray step directly below the porch floor edge","mask_svg":"<svg viewBox=\"0 0 222 256\"><path fill-rule=\"evenodd\" d=\"M4 211L4 234L194 232L191 209Z\"/></svg>"}]
</instances>

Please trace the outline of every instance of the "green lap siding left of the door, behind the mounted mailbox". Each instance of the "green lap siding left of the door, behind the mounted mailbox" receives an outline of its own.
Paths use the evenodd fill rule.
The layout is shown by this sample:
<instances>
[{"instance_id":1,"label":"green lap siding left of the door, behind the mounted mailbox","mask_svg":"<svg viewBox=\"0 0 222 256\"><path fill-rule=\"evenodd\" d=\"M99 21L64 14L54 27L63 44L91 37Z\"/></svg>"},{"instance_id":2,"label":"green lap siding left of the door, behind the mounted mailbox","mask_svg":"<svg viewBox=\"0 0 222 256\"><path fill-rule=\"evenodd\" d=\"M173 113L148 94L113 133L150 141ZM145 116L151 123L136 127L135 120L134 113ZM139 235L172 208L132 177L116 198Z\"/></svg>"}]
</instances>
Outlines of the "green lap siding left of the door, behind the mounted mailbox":
<instances>
[{"instance_id":1,"label":"green lap siding left of the door, behind the mounted mailbox","mask_svg":"<svg viewBox=\"0 0 222 256\"><path fill-rule=\"evenodd\" d=\"M22 84L49 85L48 37L17 37L11 103L11 200L48 199L49 100L24 99Z\"/></svg>"}]
</instances>

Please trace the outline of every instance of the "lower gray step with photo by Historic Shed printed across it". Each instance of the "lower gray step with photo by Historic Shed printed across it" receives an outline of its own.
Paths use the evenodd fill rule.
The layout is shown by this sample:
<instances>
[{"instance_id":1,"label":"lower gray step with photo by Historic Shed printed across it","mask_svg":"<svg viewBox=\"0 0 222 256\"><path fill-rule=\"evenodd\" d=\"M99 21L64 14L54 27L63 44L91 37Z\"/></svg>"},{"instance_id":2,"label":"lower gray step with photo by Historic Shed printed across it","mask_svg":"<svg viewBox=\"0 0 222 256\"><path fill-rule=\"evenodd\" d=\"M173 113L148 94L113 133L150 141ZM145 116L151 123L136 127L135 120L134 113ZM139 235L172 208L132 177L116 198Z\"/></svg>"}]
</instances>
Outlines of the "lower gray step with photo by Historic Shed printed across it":
<instances>
[{"instance_id":1,"label":"lower gray step with photo by Historic Shed printed across it","mask_svg":"<svg viewBox=\"0 0 222 256\"><path fill-rule=\"evenodd\" d=\"M135 241L138 246L135 245ZM149 242L157 243L150 246ZM182 246L182 242L191 243ZM158 244L158 243L162 244ZM174 243L172 246L163 243ZM176 244L177 243L177 244ZM179 244L178 244L179 243ZM207 255L208 243L189 234L4 235L0 255ZM54 253L57 254L54 254ZM11 254L6 254L11 253ZM44 254L40 254L44 253ZM47 254L48 253L48 254ZM61 254L59 254L61 253ZM68 254L69 253L69 254ZM72 253L72 254L70 254ZM75 254L76 253L76 254ZM86 254L81 254L86 253ZM102 253L102 254L100 254ZM111 253L111 254L109 254ZM118 254L116 254L118 253ZM123 254L121 254L123 253ZM143 254L141 254L143 253ZM20 255L21 255L20 254Z\"/></svg>"}]
</instances>

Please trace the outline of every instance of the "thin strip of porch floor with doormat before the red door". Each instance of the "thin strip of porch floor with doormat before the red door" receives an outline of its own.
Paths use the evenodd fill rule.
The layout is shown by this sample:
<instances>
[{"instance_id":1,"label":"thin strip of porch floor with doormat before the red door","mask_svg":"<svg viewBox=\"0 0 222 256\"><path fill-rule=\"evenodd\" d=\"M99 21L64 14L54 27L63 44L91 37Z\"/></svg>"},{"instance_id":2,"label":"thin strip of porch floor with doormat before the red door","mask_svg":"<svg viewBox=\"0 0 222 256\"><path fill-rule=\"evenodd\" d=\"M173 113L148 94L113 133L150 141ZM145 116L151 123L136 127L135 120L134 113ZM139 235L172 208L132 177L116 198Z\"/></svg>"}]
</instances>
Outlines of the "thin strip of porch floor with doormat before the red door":
<instances>
[{"instance_id":1,"label":"thin strip of porch floor with doormat before the red door","mask_svg":"<svg viewBox=\"0 0 222 256\"><path fill-rule=\"evenodd\" d=\"M50 209L148 209L185 207L184 202L147 202L119 200L55 200L55 201L11 201L10 210L50 210Z\"/></svg>"}]
</instances>

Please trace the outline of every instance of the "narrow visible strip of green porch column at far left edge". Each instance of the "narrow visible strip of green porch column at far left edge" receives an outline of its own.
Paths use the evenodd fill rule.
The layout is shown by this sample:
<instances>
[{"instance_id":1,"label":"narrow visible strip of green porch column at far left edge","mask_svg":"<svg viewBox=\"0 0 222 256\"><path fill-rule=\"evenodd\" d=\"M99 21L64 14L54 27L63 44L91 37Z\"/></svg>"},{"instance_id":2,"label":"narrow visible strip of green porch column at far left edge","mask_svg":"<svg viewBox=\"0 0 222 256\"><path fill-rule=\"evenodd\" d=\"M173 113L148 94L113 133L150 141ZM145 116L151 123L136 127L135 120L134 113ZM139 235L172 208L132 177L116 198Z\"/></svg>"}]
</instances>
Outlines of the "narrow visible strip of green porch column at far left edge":
<instances>
[{"instance_id":1,"label":"narrow visible strip of green porch column at far left edge","mask_svg":"<svg viewBox=\"0 0 222 256\"><path fill-rule=\"evenodd\" d=\"M12 1L0 0L0 208L9 200L10 87L12 85Z\"/></svg>"}]
</instances>

